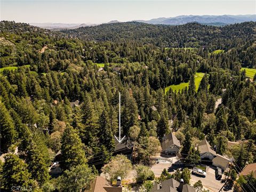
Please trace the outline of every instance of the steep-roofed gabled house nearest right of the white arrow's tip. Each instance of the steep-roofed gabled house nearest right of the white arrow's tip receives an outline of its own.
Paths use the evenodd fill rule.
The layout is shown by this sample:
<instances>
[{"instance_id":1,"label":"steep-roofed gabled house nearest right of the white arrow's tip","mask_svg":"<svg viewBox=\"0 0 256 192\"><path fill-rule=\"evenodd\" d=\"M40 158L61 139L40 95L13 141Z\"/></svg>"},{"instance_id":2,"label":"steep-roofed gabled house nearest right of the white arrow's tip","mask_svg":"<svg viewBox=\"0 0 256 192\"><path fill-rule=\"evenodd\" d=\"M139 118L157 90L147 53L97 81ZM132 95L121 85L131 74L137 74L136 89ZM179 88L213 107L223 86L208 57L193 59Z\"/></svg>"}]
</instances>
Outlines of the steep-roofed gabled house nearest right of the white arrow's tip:
<instances>
[{"instance_id":1,"label":"steep-roofed gabled house nearest right of the white arrow's tip","mask_svg":"<svg viewBox=\"0 0 256 192\"><path fill-rule=\"evenodd\" d=\"M177 154L180 151L180 141L175 137L173 132L163 138L162 150L164 154Z\"/></svg>"}]
</instances>

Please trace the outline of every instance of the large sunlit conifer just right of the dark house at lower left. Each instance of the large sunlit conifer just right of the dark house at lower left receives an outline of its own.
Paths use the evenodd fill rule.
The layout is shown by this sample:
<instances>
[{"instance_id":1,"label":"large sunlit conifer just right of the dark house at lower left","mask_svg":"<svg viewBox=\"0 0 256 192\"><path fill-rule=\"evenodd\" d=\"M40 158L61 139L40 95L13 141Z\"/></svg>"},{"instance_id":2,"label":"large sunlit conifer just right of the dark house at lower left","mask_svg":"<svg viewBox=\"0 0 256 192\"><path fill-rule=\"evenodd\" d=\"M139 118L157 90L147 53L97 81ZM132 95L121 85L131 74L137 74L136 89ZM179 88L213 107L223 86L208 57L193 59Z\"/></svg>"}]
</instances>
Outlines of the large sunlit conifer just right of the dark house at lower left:
<instances>
[{"instance_id":1,"label":"large sunlit conifer just right of the dark house at lower left","mask_svg":"<svg viewBox=\"0 0 256 192\"><path fill-rule=\"evenodd\" d=\"M65 169L70 169L73 166L82 165L87 162L83 143L77 131L69 125L66 127L61 138L61 154Z\"/></svg>"}]
</instances>

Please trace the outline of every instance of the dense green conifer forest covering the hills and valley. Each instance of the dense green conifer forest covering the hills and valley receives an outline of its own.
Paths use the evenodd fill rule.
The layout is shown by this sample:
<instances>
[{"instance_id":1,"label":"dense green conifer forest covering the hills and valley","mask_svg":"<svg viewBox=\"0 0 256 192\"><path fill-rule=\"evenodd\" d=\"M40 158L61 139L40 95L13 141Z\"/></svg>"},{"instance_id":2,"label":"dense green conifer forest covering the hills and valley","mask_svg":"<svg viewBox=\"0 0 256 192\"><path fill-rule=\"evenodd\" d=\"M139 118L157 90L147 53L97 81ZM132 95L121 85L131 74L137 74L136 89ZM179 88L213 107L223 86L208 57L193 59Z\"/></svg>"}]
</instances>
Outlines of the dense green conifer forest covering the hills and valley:
<instances>
[{"instance_id":1,"label":"dense green conifer forest covering the hills and valley","mask_svg":"<svg viewBox=\"0 0 256 192\"><path fill-rule=\"evenodd\" d=\"M92 159L108 163L115 149L119 92L122 135L137 144L133 163L149 165L171 129L181 144L191 137L194 147L206 136L241 167L256 162L255 147L227 148L228 140L256 144L256 76L241 71L256 68L255 22L129 22L55 33L1 21L0 28L1 154L18 147L1 164L1 188L70 191L63 186L82 180L69 179L70 170L87 175L88 188L98 174ZM199 82L196 73L204 73ZM188 87L165 93L180 83ZM53 179L48 169L60 149L65 174Z\"/></svg>"}]
</instances>

